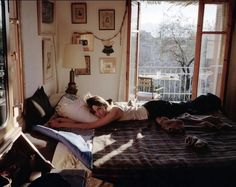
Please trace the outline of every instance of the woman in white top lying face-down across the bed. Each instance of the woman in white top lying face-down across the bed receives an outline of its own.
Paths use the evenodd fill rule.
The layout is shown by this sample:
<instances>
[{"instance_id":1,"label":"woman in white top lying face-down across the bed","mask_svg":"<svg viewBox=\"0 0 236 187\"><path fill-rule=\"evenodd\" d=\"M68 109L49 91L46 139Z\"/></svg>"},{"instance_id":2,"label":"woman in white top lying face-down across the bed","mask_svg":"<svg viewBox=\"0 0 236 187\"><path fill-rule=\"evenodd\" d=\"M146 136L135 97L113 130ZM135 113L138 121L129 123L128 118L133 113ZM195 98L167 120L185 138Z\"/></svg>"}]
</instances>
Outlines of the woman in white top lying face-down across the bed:
<instances>
[{"instance_id":1,"label":"woman in white top lying face-down across the bed","mask_svg":"<svg viewBox=\"0 0 236 187\"><path fill-rule=\"evenodd\" d=\"M161 126L172 126L172 129L182 130L183 122L174 119L185 112L192 114L203 114L212 111L217 111L221 107L220 99L213 95L207 94L197 97L193 101L171 103L164 100L148 101L138 107L122 107L119 105L109 104L100 96L86 96L85 101L90 109L90 112L96 115L99 119L90 123L81 123L69 118L56 118L50 121L50 126L53 128L68 127L93 129L107 125L113 121L124 120L156 120Z\"/></svg>"}]
</instances>

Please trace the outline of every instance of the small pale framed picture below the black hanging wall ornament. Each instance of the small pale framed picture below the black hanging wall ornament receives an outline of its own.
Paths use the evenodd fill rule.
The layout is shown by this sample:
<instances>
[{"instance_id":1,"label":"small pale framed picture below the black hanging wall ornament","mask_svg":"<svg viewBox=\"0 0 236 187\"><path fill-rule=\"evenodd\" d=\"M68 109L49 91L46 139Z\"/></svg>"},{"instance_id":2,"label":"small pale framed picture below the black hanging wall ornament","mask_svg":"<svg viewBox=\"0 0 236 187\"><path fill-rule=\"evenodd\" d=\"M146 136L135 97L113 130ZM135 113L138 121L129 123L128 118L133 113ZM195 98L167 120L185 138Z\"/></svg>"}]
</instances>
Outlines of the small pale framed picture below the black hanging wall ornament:
<instances>
[{"instance_id":1,"label":"small pale framed picture below the black hanging wall ornament","mask_svg":"<svg viewBox=\"0 0 236 187\"><path fill-rule=\"evenodd\" d=\"M100 72L103 74L116 73L115 58L100 58Z\"/></svg>"}]
</instances>

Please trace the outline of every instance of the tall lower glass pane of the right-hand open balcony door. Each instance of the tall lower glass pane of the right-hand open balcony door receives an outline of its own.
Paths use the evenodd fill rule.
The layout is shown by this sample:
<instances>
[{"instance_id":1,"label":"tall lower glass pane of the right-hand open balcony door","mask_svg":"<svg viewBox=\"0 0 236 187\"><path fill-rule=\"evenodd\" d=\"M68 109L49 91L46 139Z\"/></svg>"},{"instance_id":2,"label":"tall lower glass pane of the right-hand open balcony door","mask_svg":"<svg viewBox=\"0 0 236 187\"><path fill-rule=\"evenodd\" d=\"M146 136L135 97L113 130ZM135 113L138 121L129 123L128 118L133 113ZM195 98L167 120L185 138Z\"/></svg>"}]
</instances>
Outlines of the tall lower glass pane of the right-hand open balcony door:
<instances>
[{"instance_id":1,"label":"tall lower glass pane of the right-hand open balcony door","mask_svg":"<svg viewBox=\"0 0 236 187\"><path fill-rule=\"evenodd\" d=\"M220 96L225 42L223 34L203 35L198 95L210 92Z\"/></svg>"}]
</instances>

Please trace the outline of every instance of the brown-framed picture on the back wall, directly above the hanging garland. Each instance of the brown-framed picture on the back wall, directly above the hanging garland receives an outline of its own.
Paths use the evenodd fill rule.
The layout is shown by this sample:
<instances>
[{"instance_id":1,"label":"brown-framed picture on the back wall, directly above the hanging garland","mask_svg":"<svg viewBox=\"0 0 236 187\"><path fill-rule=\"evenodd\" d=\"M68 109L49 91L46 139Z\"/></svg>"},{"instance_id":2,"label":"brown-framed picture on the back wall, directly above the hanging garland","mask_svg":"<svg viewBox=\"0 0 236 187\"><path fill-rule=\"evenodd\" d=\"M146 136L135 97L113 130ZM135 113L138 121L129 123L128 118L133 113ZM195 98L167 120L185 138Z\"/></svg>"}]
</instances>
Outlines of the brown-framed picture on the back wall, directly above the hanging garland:
<instances>
[{"instance_id":1,"label":"brown-framed picture on the back wall, directly above the hanging garland","mask_svg":"<svg viewBox=\"0 0 236 187\"><path fill-rule=\"evenodd\" d=\"M114 9L100 9L99 30L115 30L115 10Z\"/></svg>"}]
</instances>

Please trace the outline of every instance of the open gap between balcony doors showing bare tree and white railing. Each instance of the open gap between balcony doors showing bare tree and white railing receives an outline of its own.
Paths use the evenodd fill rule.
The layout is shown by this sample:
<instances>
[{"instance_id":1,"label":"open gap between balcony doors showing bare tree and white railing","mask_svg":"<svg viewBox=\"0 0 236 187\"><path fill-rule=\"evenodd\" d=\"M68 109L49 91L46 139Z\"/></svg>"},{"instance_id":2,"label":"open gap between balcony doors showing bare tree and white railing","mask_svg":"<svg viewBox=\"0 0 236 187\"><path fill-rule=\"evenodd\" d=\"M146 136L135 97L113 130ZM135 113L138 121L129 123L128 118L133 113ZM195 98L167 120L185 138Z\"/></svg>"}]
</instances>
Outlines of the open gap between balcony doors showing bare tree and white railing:
<instances>
[{"instance_id":1,"label":"open gap between balcony doors showing bare tree and white railing","mask_svg":"<svg viewBox=\"0 0 236 187\"><path fill-rule=\"evenodd\" d=\"M140 4L138 76L152 77L155 99L190 100L198 3L183 6L172 1L141 1ZM152 99L152 94L145 94Z\"/></svg>"}]
</instances>

